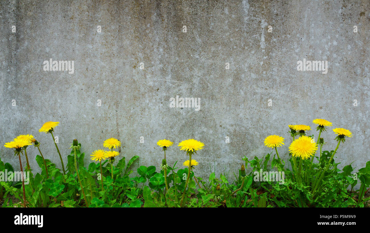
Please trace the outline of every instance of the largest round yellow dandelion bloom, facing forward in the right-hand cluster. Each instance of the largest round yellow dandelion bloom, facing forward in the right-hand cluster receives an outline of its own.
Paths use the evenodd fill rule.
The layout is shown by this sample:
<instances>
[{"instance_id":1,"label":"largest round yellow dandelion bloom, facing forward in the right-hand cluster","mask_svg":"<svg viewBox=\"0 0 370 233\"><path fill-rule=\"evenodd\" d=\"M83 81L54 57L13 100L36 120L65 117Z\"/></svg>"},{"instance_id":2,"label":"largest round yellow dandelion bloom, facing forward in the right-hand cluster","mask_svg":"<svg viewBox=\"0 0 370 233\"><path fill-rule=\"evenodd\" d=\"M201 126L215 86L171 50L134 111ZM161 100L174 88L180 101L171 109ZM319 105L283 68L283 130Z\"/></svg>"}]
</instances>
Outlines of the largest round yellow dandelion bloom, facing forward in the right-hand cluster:
<instances>
[{"instance_id":1,"label":"largest round yellow dandelion bloom, facing forward in the right-hand cluster","mask_svg":"<svg viewBox=\"0 0 370 233\"><path fill-rule=\"evenodd\" d=\"M292 156L307 159L312 156L317 150L317 145L309 136L302 136L292 142L289 146L289 151Z\"/></svg>"}]
</instances>

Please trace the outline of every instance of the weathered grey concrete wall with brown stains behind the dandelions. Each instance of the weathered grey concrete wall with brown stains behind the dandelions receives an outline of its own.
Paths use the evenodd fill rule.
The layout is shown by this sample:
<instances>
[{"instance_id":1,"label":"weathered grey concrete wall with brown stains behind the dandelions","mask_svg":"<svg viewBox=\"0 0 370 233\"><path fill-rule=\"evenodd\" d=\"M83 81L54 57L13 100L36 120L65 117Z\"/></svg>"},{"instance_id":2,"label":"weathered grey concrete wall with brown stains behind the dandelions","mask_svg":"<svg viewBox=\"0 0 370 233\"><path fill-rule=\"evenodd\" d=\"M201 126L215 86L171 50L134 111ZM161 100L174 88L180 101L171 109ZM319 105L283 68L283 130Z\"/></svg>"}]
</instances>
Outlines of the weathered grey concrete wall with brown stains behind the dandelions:
<instances>
[{"instance_id":1,"label":"weathered grey concrete wall with brown stains behind the dandelions","mask_svg":"<svg viewBox=\"0 0 370 233\"><path fill-rule=\"evenodd\" d=\"M38 132L44 122L59 121L54 136L65 164L74 138L90 163L91 152L115 137L125 146L121 156L139 155L141 165L158 171L159 139L174 142L167 161L182 167L187 157L177 145L194 138L205 144L194 156L196 174L207 177L211 164L216 175L232 178L243 156L272 152L266 136L286 138L279 152L288 159L287 125L314 129L312 120L324 118L333 122L322 134L324 150L336 146L333 128L349 129L353 137L340 145L336 162L364 167L370 3L351 2L1 1L1 145L30 133L61 167L51 136ZM50 58L74 60L74 73L44 71ZM327 60L329 71L297 71L304 58ZM200 111L170 108L176 95L200 98ZM40 171L36 154L28 150ZM2 147L1 156L19 167L10 149Z\"/></svg>"}]
</instances>

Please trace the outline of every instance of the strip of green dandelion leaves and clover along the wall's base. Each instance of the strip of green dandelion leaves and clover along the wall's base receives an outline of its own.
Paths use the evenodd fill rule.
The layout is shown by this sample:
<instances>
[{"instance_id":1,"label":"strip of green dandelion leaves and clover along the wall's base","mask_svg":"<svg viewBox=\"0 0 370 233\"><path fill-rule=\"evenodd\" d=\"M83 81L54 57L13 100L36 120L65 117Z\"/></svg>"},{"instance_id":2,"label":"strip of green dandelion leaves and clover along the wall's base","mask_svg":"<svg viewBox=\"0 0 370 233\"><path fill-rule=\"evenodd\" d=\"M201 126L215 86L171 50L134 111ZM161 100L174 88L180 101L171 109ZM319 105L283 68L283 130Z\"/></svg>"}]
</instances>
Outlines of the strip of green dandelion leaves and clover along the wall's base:
<instances>
[{"instance_id":1,"label":"strip of green dandelion leaves and clover along the wall's base","mask_svg":"<svg viewBox=\"0 0 370 233\"><path fill-rule=\"evenodd\" d=\"M234 173L233 177L228 177L225 173L216 175L211 170L208 179L203 180L196 177L191 170L186 189L189 170L176 168L177 161L174 167L167 168L166 176L164 170L157 172L155 166L138 166L137 175L132 174L132 165L138 161L139 156L133 156L128 162L125 157L115 161L113 171L108 160L102 161L101 172L100 163L84 164L85 154L76 150L77 171L72 151L67 156L65 175L54 163L45 160L47 177L44 160L37 155L36 161L41 173L30 173L30 185L26 185L26 200L29 207L180 207L184 192L186 207L363 207L369 202L365 193L370 186L370 161L357 173L353 173L351 164L339 170L334 159L330 160L333 152L322 152L321 157L316 157L318 163L303 160L300 171L302 182L297 180L292 158L286 164L272 154L266 154L262 159L257 156L251 160L243 158L245 171L249 171L245 177L241 175L241 170ZM325 170L327 165L329 169ZM0 160L0 171L5 170L14 171L9 163ZM260 171L263 171L262 175L259 174ZM88 203L83 198L77 172ZM264 179L264 172L284 172L284 177L282 180ZM313 184L319 180L320 174L323 174L323 178L314 191ZM260 177L262 180L259 180ZM360 189L353 190L358 182ZM21 206L22 191L22 183L19 181L0 181L2 206ZM19 202L13 203L11 197Z\"/></svg>"}]
</instances>

